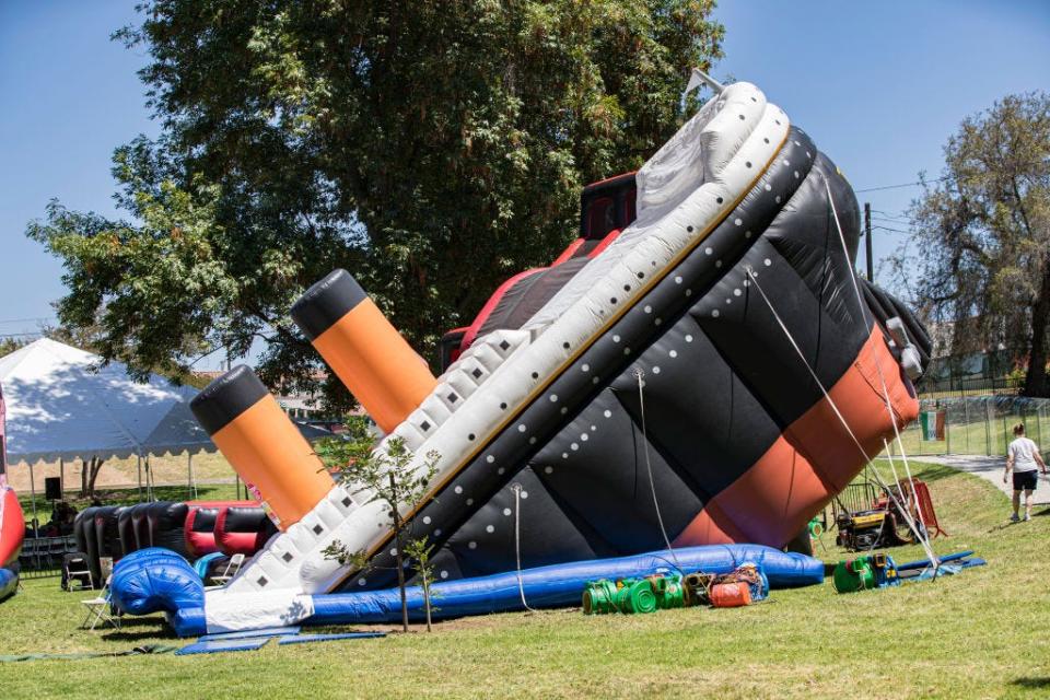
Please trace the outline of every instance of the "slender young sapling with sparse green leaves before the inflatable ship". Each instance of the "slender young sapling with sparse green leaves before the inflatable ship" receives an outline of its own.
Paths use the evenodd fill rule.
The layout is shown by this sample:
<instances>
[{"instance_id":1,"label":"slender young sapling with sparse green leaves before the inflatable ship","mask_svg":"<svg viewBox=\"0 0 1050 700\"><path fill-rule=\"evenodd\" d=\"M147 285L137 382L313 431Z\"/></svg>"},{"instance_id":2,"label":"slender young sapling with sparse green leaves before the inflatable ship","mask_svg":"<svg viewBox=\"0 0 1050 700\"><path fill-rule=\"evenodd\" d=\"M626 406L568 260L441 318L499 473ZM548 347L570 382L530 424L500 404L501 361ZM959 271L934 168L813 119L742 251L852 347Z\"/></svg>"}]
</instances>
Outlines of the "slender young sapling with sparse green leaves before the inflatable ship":
<instances>
[{"instance_id":1,"label":"slender young sapling with sparse green leaves before the inflatable ship","mask_svg":"<svg viewBox=\"0 0 1050 700\"><path fill-rule=\"evenodd\" d=\"M378 502L383 505L389 524L394 530L394 560L397 569L397 587L401 596L401 629L408 631L408 598L405 593L405 563L409 549L420 552L427 549L412 547L410 537L410 522L405 520L402 512L411 513L427 495L430 480L438 471L438 460L441 455L431 451L419 463L415 455L405 446L400 438L392 438L384 450L372 451L366 443L355 440L326 440L318 443L317 455L330 469L338 469L339 479L352 493L368 495L368 502ZM368 570L372 567L365 551L348 550L340 541L332 542L325 555L336 559L342 565ZM424 552L429 564L430 552ZM428 580L429 576L424 576ZM427 584L429 586L429 584ZM424 595L428 607L429 623L429 594ZM429 627L429 626L428 626Z\"/></svg>"}]
</instances>

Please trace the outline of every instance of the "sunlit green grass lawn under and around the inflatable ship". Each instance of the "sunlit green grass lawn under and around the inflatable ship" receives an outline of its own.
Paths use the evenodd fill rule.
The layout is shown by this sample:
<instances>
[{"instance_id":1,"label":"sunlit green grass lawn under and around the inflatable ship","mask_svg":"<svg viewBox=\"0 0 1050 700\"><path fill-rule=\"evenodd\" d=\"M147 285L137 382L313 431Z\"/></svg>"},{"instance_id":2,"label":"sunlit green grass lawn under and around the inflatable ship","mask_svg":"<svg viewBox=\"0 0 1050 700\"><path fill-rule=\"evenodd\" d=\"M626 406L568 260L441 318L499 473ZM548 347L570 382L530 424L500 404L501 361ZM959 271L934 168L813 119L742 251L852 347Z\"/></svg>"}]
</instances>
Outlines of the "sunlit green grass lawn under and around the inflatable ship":
<instances>
[{"instance_id":1,"label":"sunlit green grass lawn under and around the inflatable ship","mask_svg":"<svg viewBox=\"0 0 1050 700\"><path fill-rule=\"evenodd\" d=\"M506 614L259 652L0 664L3 698L748 697L999 698L1050 695L1050 514L1007 525L990 485L922 465L950 538L988 567L934 583L837 595L830 582L747 608L648 616ZM817 547L842 552L833 535ZM891 551L919 558L915 547ZM0 606L0 654L180 644L159 616L81 631L56 579Z\"/></svg>"}]
</instances>

